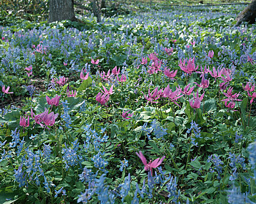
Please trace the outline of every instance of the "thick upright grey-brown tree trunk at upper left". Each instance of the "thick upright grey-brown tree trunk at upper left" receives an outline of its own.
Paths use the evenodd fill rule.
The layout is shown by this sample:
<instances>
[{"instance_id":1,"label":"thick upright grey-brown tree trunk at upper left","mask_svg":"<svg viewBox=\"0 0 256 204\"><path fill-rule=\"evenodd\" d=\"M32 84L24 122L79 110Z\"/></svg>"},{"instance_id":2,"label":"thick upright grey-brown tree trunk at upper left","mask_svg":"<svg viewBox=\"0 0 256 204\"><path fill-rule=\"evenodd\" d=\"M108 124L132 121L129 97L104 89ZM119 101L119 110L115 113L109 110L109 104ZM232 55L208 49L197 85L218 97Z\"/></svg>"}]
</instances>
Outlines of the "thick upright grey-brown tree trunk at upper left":
<instances>
[{"instance_id":1,"label":"thick upright grey-brown tree trunk at upper left","mask_svg":"<svg viewBox=\"0 0 256 204\"><path fill-rule=\"evenodd\" d=\"M49 22L75 20L74 0L49 0Z\"/></svg>"}]
</instances>

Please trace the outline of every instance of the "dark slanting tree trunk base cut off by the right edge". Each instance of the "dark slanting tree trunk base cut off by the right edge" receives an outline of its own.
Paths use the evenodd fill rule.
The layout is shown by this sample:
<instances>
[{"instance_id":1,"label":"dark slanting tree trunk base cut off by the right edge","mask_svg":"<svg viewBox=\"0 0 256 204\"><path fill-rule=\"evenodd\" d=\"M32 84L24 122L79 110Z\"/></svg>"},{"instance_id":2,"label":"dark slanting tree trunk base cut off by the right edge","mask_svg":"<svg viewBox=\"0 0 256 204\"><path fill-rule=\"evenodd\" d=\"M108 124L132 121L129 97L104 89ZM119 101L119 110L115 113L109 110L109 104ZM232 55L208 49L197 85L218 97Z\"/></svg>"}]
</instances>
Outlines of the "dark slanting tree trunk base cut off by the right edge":
<instances>
[{"instance_id":1,"label":"dark slanting tree trunk base cut off by the right edge","mask_svg":"<svg viewBox=\"0 0 256 204\"><path fill-rule=\"evenodd\" d=\"M248 22L250 24L255 23L256 17L256 0L252 1L241 13L238 14L236 20L236 26L242 22Z\"/></svg>"}]
</instances>

